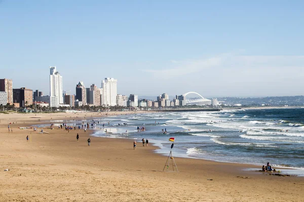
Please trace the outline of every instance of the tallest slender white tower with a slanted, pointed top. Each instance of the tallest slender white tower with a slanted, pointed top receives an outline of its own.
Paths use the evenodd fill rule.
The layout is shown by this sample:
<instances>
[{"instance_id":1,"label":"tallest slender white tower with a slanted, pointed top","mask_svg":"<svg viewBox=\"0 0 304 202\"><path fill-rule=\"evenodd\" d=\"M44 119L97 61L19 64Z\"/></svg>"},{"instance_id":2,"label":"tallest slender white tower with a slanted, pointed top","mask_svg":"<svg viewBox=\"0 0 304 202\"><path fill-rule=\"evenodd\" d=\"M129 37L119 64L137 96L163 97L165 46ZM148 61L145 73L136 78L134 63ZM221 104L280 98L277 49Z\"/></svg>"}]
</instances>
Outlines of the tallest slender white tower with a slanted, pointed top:
<instances>
[{"instance_id":1,"label":"tallest slender white tower with a slanted, pointed top","mask_svg":"<svg viewBox=\"0 0 304 202\"><path fill-rule=\"evenodd\" d=\"M63 104L62 76L56 71L56 67L50 67L50 96L55 97L55 106Z\"/></svg>"}]
</instances>

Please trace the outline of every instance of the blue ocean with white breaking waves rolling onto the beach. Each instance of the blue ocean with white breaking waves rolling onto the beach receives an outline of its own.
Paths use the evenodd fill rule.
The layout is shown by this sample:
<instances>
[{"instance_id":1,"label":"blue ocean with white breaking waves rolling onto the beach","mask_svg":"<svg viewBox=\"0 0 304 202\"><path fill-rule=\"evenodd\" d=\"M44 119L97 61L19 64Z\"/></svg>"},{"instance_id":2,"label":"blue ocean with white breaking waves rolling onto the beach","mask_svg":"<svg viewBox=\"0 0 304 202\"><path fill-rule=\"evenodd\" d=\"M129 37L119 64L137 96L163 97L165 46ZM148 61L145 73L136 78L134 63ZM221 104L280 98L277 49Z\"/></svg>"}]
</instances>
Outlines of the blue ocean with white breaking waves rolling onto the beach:
<instances>
[{"instance_id":1,"label":"blue ocean with white breaking waves rolling onto the beach","mask_svg":"<svg viewBox=\"0 0 304 202\"><path fill-rule=\"evenodd\" d=\"M160 147L156 150L159 154L169 154L169 138L175 137L175 157L259 166L270 162L274 167L304 170L303 115L302 108L241 109L132 114L84 121L90 125L93 120L99 121L96 127L91 126L93 136L130 138L130 147L134 139L138 145L142 138L148 139ZM145 131L137 132L137 126Z\"/></svg>"}]
</instances>

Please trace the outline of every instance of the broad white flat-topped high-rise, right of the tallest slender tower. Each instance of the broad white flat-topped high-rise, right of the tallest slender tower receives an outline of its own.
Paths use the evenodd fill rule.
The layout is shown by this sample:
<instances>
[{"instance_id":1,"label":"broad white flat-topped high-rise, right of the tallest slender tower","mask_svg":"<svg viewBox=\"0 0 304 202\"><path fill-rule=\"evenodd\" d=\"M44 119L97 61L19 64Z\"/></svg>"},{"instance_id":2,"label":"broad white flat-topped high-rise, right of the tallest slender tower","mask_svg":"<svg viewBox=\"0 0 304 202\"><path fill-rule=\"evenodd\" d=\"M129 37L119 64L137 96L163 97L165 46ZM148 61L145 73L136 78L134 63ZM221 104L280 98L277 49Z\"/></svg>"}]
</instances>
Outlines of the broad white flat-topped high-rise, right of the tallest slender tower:
<instances>
[{"instance_id":1,"label":"broad white flat-topped high-rise, right of the tallest slender tower","mask_svg":"<svg viewBox=\"0 0 304 202\"><path fill-rule=\"evenodd\" d=\"M102 104L105 106L116 106L117 103L117 79L105 78L102 83Z\"/></svg>"}]
</instances>

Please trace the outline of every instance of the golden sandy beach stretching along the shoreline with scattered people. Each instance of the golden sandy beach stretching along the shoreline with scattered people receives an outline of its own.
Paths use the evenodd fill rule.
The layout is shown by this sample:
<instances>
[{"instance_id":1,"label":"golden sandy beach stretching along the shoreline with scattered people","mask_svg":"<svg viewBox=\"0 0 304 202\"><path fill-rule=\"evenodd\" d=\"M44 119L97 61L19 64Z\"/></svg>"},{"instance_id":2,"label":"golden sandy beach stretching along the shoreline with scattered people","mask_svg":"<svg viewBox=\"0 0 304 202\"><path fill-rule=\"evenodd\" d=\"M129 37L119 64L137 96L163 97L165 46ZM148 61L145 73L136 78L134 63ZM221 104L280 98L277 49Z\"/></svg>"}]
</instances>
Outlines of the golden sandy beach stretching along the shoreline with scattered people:
<instances>
[{"instance_id":1,"label":"golden sandy beach stretching along the shoreline with scattered people","mask_svg":"<svg viewBox=\"0 0 304 202\"><path fill-rule=\"evenodd\" d=\"M134 150L132 139L94 137L90 130L55 127L40 134L18 128L97 116L106 115L0 114L0 201L303 201L303 177L270 176L244 171L260 169L252 165L186 158L174 158L179 173L162 172L167 156L155 154L152 144L143 147L138 142Z\"/></svg>"}]
</instances>

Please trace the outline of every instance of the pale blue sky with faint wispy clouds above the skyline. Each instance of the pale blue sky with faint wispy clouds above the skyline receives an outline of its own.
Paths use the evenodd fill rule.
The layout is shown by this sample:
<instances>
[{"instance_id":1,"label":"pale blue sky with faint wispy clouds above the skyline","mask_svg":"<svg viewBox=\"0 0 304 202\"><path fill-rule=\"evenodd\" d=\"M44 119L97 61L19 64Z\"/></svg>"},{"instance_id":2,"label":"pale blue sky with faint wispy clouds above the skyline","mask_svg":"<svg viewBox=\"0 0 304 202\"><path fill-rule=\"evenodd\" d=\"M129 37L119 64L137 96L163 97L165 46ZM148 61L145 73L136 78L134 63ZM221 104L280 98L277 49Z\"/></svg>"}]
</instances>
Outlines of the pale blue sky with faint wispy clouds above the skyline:
<instances>
[{"instance_id":1,"label":"pale blue sky with faint wispy clouds above the skyline","mask_svg":"<svg viewBox=\"0 0 304 202\"><path fill-rule=\"evenodd\" d=\"M0 0L1 78L49 94L118 79L118 93L303 95L303 1Z\"/></svg>"}]
</instances>

